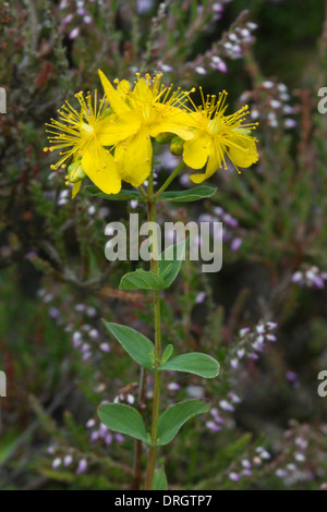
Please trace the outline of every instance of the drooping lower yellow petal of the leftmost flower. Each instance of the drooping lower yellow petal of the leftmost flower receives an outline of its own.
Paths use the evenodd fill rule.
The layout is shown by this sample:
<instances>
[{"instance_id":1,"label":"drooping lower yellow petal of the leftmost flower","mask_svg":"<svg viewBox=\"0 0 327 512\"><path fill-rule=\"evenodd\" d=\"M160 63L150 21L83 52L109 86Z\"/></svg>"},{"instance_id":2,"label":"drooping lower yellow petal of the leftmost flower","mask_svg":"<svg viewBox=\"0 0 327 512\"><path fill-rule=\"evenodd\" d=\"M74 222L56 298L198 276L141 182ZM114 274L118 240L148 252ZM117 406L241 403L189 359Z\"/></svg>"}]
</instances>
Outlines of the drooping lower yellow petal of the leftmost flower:
<instances>
[{"instance_id":1,"label":"drooping lower yellow petal of the leftmost flower","mask_svg":"<svg viewBox=\"0 0 327 512\"><path fill-rule=\"evenodd\" d=\"M82 167L88 178L106 194L118 194L121 179L114 159L99 144L92 143L83 150Z\"/></svg>"}]
</instances>

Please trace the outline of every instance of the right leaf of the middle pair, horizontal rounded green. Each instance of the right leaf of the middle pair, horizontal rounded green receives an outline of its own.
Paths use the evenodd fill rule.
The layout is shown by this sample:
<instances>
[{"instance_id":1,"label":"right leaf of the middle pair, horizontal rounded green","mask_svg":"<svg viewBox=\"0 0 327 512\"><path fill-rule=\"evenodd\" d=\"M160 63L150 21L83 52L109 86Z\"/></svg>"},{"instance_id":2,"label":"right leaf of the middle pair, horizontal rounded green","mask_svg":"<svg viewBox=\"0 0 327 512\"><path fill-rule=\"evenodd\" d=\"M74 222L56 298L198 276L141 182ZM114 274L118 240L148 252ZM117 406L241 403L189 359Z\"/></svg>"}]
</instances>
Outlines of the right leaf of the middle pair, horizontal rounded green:
<instances>
[{"instance_id":1,"label":"right leaf of the middle pair, horizontal rounded green","mask_svg":"<svg viewBox=\"0 0 327 512\"><path fill-rule=\"evenodd\" d=\"M199 375L205 379L213 379L219 374L219 363L207 354L191 352L190 354L177 355L160 365L158 369L186 371L187 374Z\"/></svg>"}]
</instances>

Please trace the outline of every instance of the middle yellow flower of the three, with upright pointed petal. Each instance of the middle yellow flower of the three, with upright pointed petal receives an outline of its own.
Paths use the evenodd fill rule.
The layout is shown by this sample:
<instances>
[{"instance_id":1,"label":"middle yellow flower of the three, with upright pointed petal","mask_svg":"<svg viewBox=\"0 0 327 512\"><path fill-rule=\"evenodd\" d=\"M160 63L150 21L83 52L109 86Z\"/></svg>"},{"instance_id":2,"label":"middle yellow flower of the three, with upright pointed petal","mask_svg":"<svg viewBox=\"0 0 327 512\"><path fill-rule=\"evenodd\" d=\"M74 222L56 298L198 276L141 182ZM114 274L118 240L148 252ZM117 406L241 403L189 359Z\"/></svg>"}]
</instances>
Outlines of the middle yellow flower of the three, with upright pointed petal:
<instances>
[{"instance_id":1,"label":"middle yellow flower of the three, with upright pointed petal","mask_svg":"<svg viewBox=\"0 0 327 512\"><path fill-rule=\"evenodd\" d=\"M183 139L193 137L190 114L181 109L189 93L180 89L171 94L172 86L161 85L161 74L140 77L134 88L126 81L114 81L112 86L99 71L100 80L114 115L104 130L102 142L114 145L114 161L122 180L140 186L152 170L153 146L150 137L170 132Z\"/></svg>"}]
</instances>

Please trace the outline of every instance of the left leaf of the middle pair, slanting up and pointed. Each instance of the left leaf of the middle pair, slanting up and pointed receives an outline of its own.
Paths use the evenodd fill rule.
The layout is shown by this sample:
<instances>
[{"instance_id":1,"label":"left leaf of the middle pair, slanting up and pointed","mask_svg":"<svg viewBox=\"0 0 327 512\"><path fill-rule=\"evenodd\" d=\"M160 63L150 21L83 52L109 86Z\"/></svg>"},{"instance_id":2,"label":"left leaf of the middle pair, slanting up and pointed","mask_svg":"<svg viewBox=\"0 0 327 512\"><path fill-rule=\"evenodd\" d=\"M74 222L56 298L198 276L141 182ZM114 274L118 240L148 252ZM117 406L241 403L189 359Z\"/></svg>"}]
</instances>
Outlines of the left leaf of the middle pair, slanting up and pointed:
<instances>
[{"instance_id":1,"label":"left leaf of the middle pair, slanting up and pointed","mask_svg":"<svg viewBox=\"0 0 327 512\"><path fill-rule=\"evenodd\" d=\"M132 359L147 369L154 368L155 345L154 343L135 329L112 324L102 319L102 322L111 334L119 341L122 348L130 354Z\"/></svg>"}]
</instances>

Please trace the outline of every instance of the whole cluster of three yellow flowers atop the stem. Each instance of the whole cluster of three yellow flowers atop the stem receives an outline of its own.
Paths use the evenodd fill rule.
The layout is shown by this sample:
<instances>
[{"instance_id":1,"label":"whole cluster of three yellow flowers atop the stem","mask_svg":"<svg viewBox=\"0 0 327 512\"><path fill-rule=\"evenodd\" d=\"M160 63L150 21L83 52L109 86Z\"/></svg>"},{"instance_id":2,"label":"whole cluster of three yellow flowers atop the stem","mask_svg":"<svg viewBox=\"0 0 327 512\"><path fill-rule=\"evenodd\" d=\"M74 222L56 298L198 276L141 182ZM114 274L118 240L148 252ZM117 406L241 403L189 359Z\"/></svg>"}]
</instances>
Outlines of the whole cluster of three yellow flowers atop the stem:
<instances>
[{"instance_id":1,"label":"whole cluster of three yellow flowers atop the stem","mask_svg":"<svg viewBox=\"0 0 327 512\"><path fill-rule=\"evenodd\" d=\"M194 183L218 168L227 169L227 157L237 169L257 161L256 138L251 135L255 123L244 123L246 106L225 114L226 92L205 97L201 88L198 106L190 97L195 89L173 92L172 85L162 84L161 74L136 73L133 87L125 80L116 80L114 87L101 71L99 75L105 89L99 102L97 92L94 97L78 93L80 110L66 101L59 120L48 124L51 146L45 151L60 150L52 170L71 161L66 184L73 183L73 197L86 175L107 194L118 194L122 181L141 186L152 171L154 138L172 139L174 151L178 148L190 168L205 170L191 175Z\"/></svg>"}]
</instances>

